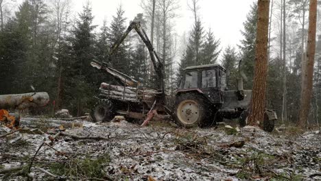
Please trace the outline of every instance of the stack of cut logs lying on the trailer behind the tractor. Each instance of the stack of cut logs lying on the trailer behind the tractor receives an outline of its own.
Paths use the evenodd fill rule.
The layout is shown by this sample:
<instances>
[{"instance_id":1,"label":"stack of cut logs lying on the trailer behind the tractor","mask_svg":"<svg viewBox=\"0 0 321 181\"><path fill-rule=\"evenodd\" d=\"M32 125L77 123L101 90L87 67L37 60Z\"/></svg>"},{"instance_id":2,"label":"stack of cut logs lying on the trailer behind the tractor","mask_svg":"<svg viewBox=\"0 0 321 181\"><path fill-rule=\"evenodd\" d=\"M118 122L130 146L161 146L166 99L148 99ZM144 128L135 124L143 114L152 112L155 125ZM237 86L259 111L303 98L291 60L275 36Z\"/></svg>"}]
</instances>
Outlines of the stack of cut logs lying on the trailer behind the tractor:
<instances>
[{"instance_id":1,"label":"stack of cut logs lying on the trailer behind the tractor","mask_svg":"<svg viewBox=\"0 0 321 181\"><path fill-rule=\"evenodd\" d=\"M125 101L154 101L156 95L160 94L157 90L152 88L134 88L132 86L115 86L105 82L100 84L101 97L110 97L112 99L119 99Z\"/></svg>"}]
</instances>

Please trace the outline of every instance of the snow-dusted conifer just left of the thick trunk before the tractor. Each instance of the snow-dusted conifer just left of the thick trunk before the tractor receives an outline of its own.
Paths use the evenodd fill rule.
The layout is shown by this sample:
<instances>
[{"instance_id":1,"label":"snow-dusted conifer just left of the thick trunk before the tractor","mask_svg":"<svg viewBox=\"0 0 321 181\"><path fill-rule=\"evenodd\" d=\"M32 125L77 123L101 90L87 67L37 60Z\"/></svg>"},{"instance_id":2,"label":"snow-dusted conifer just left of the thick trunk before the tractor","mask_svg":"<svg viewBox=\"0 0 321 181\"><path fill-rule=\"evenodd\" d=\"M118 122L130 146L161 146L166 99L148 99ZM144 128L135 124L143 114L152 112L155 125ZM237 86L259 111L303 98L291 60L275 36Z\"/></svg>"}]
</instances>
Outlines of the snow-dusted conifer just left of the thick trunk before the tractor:
<instances>
[{"instance_id":1,"label":"snow-dusted conifer just left of the thick trunk before the tractor","mask_svg":"<svg viewBox=\"0 0 321 181\"><path fill-rule=\"evenodd\" d=\"M239 49L241 50L242 69L248 77L248 81L244 82L244 88L252 88L252 80L254 73L255 59L255 39L257 37L257 3L251 5L251 10L243 23L244 31L241 32L243 40Z\"/></svg>"}]
</instances>

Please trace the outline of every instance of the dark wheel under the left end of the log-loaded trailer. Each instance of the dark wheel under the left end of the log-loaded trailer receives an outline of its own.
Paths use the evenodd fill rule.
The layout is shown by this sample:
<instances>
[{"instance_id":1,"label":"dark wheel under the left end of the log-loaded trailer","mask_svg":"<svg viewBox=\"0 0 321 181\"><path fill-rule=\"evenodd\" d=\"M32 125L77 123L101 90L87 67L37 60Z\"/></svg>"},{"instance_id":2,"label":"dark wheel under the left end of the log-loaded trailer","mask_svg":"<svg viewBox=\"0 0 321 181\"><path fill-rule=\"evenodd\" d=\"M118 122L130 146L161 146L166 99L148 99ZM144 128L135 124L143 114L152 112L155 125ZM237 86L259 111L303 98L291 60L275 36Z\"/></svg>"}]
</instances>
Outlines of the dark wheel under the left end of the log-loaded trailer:
<instances>
[{"instance_id":1,"label":"dark wheel under the left end of the log-loaded trailer","mask_svg":"<svg viewBox=\"0 0 321 181\"><path fill-rule=\"evenodd\" d=\"M114 105L108 100L99 100L91 111L93 122L111 121L115 117Z\"/></svg>"}]
</instances>

